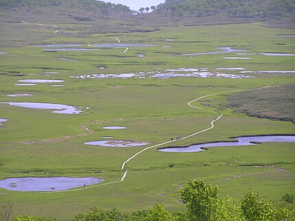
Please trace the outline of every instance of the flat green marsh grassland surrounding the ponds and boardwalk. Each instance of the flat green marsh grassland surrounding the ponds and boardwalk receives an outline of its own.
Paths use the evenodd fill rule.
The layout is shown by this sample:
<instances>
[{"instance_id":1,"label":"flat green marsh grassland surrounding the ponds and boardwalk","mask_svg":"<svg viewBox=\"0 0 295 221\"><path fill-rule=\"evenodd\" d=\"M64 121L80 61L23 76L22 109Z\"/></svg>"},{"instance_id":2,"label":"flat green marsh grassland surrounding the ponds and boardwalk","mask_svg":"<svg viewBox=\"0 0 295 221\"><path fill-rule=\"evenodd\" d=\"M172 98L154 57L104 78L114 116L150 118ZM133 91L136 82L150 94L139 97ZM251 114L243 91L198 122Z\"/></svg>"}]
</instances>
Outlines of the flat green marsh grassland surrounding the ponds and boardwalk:
<instances>
[{"instance_id":1,"label":"flat green marsh grassland surrounding the ponds and boardwalk","mask_svg":"<svg viewBox=\"0 0 295 221\"><path fill-rule=\"evenodd\" d=\"M19 23L22 27L34 25ZM54 24L53 24L54 25ZM113 136L117 140L134 140L153 146L171 137L185 137L211 126L215 128L173 146L193 143L230 141L246 135L294 135L294 124L287 121L259 119L235 113L221 104L237 91L254 90L278 82L294 84L294 73L258 73L257 71L294 71L294 56L263 56L261 52L295 54L294 30L263 27L261 23L210 25L200 27L163 27L156 32L79 34L82 25L65 23L71 34L48 32L27 46L1 47L0 102L47 102L81 107L80 115L62 115L51 110L21 108L0 104L0 178L27 176L73 176L104 178L104 183L121 180L121 165L147 146L107 148L86 146L84 142ZM86 27L85 27L86 28ZM40 29L40 30L39 30ZM76 30L75 30L76 29ZM72 30L72 31L71 31ZM87 28L88 30L88 28ZM20 32L25 33L25 32ZM35 38L36 36L34 36ZM44 52L32 45L98 43L140 43L154 47L99 48L97 51ZM167 42L166 38L174 41ZM17 44L16 44L17 46ZM162 46L172 46L165 48ZM245 49L252 60L229 60L231 54L182 56L187 53L219 51L217 47ZM92 48L92 47L91 47ZM241 52L244 53L244 52ZM145 57L139 58L138 54ZM248 56L247 56L248 57ZM60 60L68 58L71 60ZM101 69L104 67L104 69ZM77 75L165 71L181 67L244 68L255 78L126 78L78 79ZM54 71L51 76L45 72ZM220 71L235 73L238 71ZM18 80L59 79L64 87L49 83L16 86ZM51 83L50 83L51 84ZM294 86L292 87L294 89ZM7 97L29 93L30 97ZM213 95L215 94L215 95ZM206 110L187 105L193 102ZM276 104L280 105L280 100ZM89 109L86 107L90 107ZM209 112L213 110L215 113ZM127 126L126 130L104 130L103 126ZM85 130L84 128L89 130ZM28 144L29 143L29 144ZM165 146L172 146L168 143ZM98 185L80 191L34 193L0 190L0 203L14 204L13 216L32 214L71 220L89 207L117 207L124 211L147 209L163 202L169 211L185 210L178 197L183 183L206 178L218 185L224 196L243 198L249 191L262 191L274 202L283 194L295 194L294 143L262 143L259 146L210 148L204 152L167 153L152 148L126 164L129 170L121 183ZM102 183L103 184L103 183Z\"/></svg>"}]
</instances>

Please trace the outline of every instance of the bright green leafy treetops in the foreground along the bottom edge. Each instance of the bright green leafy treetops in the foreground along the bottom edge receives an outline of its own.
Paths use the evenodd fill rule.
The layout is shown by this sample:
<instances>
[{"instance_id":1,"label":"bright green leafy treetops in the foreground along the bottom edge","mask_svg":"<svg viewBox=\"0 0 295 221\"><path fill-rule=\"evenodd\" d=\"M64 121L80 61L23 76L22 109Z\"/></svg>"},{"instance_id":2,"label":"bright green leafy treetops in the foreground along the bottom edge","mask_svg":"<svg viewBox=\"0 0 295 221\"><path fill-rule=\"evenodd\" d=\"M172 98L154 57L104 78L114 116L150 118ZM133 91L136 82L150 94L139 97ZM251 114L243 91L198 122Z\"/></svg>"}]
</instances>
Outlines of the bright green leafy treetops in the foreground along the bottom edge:
<instances>
[{"instance_id":1,"label":"bright green leafy treetops in the foreground along the bottom edge","mask_svg":"<svg viewBox=\"0 0 295 221\"><path fill-rule=\"evenodd\" d=\"M239 202L219 194L219 189L207 181L189 181L181 191L181 200L187 212L169 213L162 204L152 209L123 212L119 209L104 211L93 207L86 213L79 213L73 221L263 221L294 220L294 196L285 194L281 201L274 204L260 193L248 192ZM23 216L14 221L53 221L54 218Z\"/></svg>"}]
</instances>

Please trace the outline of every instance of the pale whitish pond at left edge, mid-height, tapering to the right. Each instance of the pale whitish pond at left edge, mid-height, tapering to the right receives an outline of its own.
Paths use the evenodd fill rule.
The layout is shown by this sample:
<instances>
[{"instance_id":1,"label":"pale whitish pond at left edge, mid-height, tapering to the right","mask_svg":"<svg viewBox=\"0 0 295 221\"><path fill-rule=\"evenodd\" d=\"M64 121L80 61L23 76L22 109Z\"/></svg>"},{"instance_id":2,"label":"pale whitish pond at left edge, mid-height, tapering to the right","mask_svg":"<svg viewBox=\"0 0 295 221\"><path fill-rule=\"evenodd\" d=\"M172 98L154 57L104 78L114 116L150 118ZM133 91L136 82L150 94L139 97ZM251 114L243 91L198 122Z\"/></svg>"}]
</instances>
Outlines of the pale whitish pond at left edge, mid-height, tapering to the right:
<instances>
[{"instance_id":1,"label":"pale whitish pond at left edge, mid-height, tapering to the right","mask_svg":"<svg viewBox=\"0 0 295 221\"><path fill-rule=\"evenodd\" d=\"M0 102L0 104L10 104L11 106L21 106L23 108L54 110L52 113L80 114L83 110L64 104L33 103L33 102Z\"/></svg>"}]
</instances>

